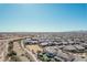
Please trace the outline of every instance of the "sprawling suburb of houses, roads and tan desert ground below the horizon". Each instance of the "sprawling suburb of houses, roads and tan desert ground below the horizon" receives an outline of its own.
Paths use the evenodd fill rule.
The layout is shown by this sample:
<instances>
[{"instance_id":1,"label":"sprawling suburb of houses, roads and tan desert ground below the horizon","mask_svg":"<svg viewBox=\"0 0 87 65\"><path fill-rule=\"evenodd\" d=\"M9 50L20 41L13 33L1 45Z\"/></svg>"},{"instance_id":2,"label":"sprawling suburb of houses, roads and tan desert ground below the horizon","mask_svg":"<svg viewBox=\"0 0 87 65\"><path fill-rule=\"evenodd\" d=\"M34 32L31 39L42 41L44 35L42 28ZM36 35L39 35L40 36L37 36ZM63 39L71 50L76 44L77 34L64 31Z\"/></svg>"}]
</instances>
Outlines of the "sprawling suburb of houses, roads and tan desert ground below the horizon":
<instances>
[{"instance_id":1,"label":"sprawling suburb of houses, roads and tan desert ground below the horizon","mask_svg":"<svg viewBox=\"0 0 87 65\"><path fill-rule=\"evenodd\" d=\"M2 62L87 62L87 32L0 33Z\"/></svg>"}]
</instances>

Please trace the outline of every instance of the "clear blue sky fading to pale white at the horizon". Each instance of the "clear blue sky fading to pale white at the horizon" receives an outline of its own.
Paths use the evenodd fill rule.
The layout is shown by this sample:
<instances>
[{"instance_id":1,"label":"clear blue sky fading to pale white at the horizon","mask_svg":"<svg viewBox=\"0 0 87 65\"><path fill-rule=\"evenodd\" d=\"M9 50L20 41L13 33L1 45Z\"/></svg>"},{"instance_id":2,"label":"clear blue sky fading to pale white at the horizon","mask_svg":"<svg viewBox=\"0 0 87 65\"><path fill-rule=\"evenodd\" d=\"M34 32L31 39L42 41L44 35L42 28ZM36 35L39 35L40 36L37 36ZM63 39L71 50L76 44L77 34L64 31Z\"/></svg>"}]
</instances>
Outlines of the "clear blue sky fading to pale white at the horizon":
<instances>
[{"instance_id":1,"label":"clear blue sky fading to pale white at the horizon","mask_svg":"<svg viewBox=\"0 0 87 65\"><path fill-rule=\"evenodd\" d=\"M87 31L85 3L0 3L0 32Z\"/></svg>"}]
</instances>

